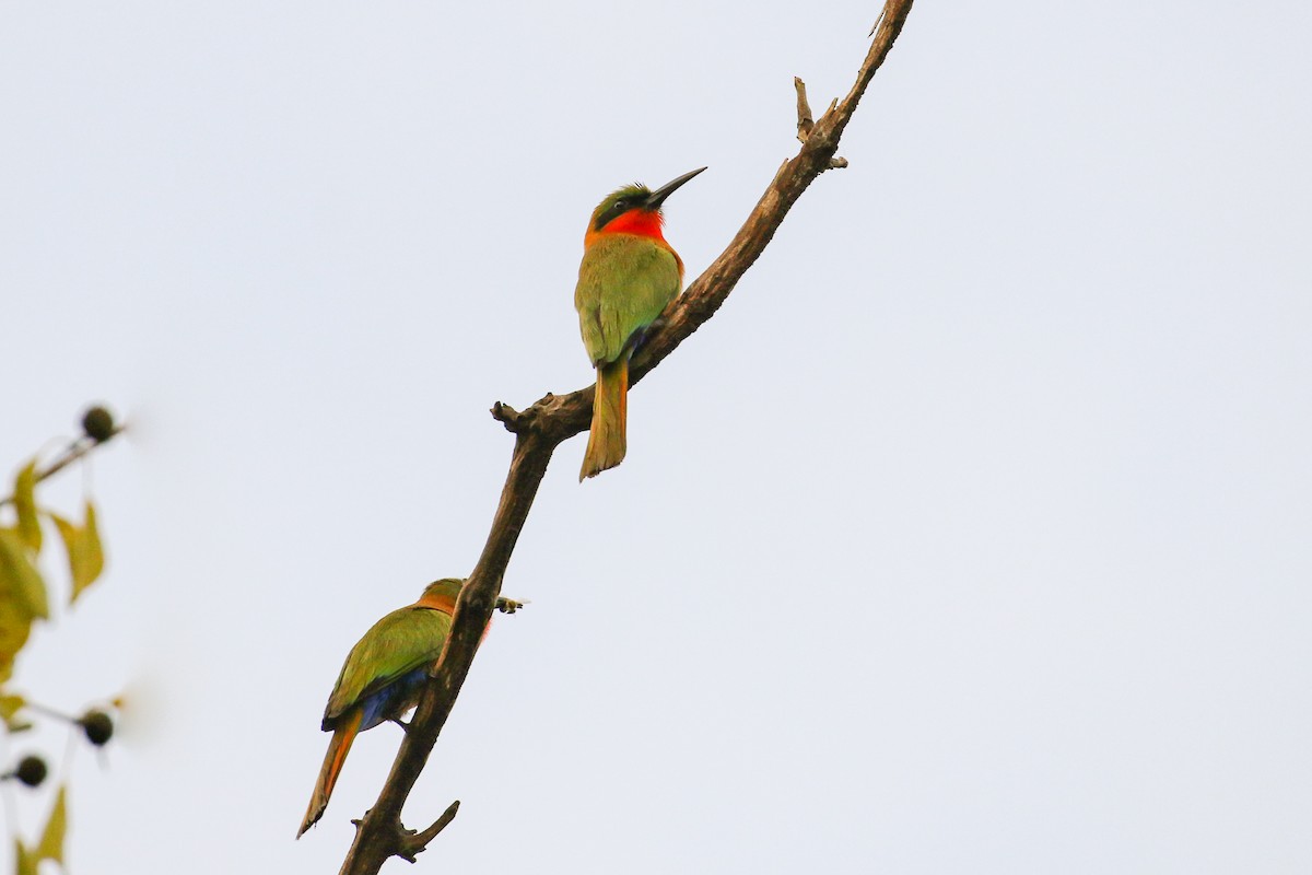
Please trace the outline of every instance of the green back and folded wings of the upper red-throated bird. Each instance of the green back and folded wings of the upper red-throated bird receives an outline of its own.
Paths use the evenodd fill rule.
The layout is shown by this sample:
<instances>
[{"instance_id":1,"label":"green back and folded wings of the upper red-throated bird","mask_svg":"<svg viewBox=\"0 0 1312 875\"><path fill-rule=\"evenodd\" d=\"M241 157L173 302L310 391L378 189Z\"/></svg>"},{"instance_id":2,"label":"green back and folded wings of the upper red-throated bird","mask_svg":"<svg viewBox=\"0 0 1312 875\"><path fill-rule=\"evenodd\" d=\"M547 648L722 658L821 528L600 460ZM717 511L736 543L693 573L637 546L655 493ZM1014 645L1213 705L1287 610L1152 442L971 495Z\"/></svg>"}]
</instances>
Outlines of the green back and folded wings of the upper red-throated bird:
<instances>
[{"instance_id":1,"label":"green back and folded wings of the upper red-throated bird","mask_svg":"<svg viewBox=\"0 0 1312 875\"><path fill-rule=\"evenodd\" d=\"M635 235L597 240L579 265L575 308L593 365L618 361L635 332L678 295L674 253Z\"/></svg>"}]
</instances>

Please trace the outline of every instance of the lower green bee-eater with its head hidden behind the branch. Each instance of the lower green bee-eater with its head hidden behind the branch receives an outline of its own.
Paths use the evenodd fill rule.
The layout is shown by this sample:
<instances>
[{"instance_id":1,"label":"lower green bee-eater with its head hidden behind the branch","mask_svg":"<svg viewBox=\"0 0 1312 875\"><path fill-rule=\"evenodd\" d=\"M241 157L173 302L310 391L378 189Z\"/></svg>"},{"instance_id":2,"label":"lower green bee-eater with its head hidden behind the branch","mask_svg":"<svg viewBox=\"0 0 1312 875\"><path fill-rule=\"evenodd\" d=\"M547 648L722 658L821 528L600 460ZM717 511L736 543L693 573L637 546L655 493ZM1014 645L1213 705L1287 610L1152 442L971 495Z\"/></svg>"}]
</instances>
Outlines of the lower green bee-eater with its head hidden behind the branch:
<instances>
[{"instance_id":1,"label":"lower green bee-eater with its head hidden behind the branch","mask_svg":"<svg viewBox=\"0 0 1312 875\"><path fill-rule=\"evenodd\" d=\"M429 584L419 601L383 617L350 648L324 708L323 731L332 732L332 740L297 838L323 817L356 736L379 723L400 723L419 702L451 631L463 585L455 577Z\"/></svg>"}]
</instances>

